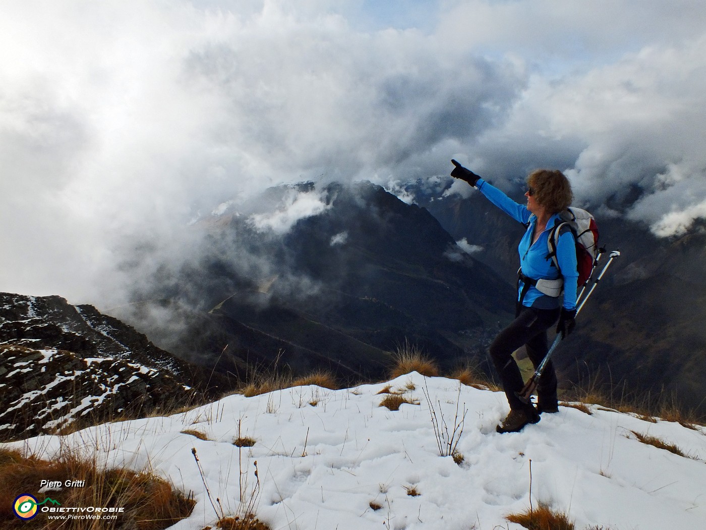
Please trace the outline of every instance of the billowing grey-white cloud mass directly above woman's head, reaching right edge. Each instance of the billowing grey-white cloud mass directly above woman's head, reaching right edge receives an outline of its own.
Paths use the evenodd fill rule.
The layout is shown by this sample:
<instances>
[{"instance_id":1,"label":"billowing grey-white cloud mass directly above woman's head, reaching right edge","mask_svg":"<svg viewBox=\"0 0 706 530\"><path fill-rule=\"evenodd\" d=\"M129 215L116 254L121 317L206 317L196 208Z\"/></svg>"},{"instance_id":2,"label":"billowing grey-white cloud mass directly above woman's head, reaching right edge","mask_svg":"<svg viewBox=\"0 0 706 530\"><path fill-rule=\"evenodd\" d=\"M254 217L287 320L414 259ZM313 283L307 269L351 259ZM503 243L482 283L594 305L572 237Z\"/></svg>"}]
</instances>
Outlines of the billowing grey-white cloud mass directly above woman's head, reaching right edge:
<instances>
[{"instance_id":1,"label":"billowing grey-white cloud mass directly above woman's head, reaching right edge","mask_svg":"<svg viewBox=\"0 0 706 530\"><path fill-rule=\"evenodd\" d=\"M706 200L705 46L706 33L581 75L534 73L464 161L510 190L536 167L558 167L580 206L681 233Z\"/></svg>"}]
</instances>

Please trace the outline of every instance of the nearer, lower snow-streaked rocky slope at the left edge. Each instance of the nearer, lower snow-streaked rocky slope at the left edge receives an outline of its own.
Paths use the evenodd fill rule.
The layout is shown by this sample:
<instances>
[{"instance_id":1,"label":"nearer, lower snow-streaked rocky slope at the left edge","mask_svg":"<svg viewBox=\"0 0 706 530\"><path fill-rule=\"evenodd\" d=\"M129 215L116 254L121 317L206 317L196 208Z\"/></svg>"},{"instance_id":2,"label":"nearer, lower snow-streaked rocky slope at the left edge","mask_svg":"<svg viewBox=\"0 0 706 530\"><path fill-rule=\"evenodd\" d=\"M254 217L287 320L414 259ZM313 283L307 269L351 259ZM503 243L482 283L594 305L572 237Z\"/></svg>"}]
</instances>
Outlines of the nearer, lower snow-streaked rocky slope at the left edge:
<instances>
[{"instance_id":1,"label":"nearer, lower snow-streaked rocky slope at the left edge","mask_svg":"<svg viewBox=\"0 0 706 530\"><path fill-rule=\"evenodd\" d=\"M169 408L189 394L193 394L191 389L171 375L126 360L80 358L52 348L0 346L3 439L131 417L143 409Z\"/></svg>"}]
</instances>

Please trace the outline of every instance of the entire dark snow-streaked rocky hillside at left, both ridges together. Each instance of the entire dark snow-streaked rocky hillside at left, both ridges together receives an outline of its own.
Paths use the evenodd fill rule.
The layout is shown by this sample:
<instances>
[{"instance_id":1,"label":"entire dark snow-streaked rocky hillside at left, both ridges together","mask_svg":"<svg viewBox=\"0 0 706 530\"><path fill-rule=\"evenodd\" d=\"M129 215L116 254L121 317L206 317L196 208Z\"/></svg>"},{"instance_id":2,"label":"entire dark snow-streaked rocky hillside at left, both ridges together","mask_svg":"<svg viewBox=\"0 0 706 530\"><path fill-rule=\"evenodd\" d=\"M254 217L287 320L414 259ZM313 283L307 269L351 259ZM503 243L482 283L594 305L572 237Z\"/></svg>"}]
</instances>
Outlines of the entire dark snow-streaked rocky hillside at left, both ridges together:
<instances>
[{"instance_id":1,"label":"entire dark snow-streaked rocky hillside at left, both ridges together","mask_svg":"<svg viewBox=\"0 0 706 530\"><path fill-rule=\"evenodd\" d=\"M204 387L203 372L95 307L0 293L0 439L186 406Z\"/></svg>"}]
</instances>

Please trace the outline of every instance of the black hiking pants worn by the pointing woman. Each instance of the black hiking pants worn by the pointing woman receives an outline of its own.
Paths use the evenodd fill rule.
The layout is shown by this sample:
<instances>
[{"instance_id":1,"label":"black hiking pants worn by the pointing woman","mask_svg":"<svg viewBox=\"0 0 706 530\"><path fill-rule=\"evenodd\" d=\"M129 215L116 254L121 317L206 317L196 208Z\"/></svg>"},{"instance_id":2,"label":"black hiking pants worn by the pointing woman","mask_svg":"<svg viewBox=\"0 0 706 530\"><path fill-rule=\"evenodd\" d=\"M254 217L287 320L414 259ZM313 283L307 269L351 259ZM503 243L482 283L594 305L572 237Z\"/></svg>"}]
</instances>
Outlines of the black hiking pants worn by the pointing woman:
<instances>
[{"instance_id":1,"label":"black hiking pants worn by the pointing woman","mask_svg":"<svg viewBox=\"0 0 706 530\"><path fill-rule=\"evenodd\" d=\"M515 392L522 390L525 383L522 382L520 368L513 359L513 352L525 345L527 356L537 368L549 350L546 330L556 322L559 311L558 308L541 310L523 306L517 318L503 329L490 345L490 356L500 375L511 409L527 406L515 395ZM551 360L546 363L544 372L537 380L537 401L539 406L556 406L556 373Z\"/></svg>"}]
</instances>

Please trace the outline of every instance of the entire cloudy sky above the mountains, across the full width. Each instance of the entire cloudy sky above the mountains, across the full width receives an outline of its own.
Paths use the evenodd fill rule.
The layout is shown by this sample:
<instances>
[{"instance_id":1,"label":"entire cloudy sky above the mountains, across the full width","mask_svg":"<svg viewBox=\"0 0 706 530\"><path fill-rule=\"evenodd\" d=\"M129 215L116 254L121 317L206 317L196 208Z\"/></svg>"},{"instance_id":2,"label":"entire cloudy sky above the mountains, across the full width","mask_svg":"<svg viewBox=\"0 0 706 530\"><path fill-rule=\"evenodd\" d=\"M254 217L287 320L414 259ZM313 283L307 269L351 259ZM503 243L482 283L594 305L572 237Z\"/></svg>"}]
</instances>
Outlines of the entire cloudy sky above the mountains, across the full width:
<instances>
[{"instance_id":1,"label":"entire cloudy sky above the mountains, across the full width","mask_svg":"<svg viewBox=\"0 0 706 530\"><path fill-rule=\"evenodd\" d=\"M559 167L659 235L706 217L700 1L417 1L420 29L373 4L4 4L0 290L107 305L225 201L452 156L508 186ZM287 204L257 219L321 208Z\"/></svg>"}]
</instances>

